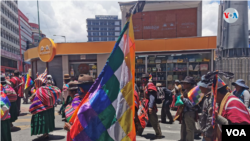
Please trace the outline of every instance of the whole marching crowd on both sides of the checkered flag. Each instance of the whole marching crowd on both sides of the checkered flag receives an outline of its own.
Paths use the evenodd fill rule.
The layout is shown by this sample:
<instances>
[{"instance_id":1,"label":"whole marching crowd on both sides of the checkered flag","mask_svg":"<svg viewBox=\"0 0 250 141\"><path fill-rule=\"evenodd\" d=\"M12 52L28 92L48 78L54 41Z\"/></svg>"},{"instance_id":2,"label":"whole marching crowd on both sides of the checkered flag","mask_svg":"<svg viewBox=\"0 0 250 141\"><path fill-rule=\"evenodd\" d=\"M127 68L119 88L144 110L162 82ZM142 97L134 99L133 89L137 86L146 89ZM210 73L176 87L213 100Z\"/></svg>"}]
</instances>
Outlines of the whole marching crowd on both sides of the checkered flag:
<instances>
[{"instance_id":1,"label":"whole marching crowd on both sides of the checkered flag","mask_svg":"<svg viewBox=\"0 0 250 141\"><path fill-rule=\"evenodd\" d=\"M43 74L34 79L34 85L24 89L22 76L18 71L8 79L0 75L0 140L11 141L13 123L21 114L21 98L24 104L31 102L29 112L31 117L31 136L40 135L40 139L47 139L49 133L55 129L55 106L59 98L62 106L58 113L65 121L67 141L71 141L70 131L77 127L74 123L74 111L94 83L93 78L87 74L80 74L78 79L64 75L62 90L55 86L51 75ZM187 76L183 81L176 80L174 88L164 87L161 83L152 82L149 74L142 75L143 91L135 85L135 126L137 135L141 136L146 126L155 130L155 139L162 138L161 123L172 124L179 121L181 124L180 141L193 141L196 137L203 137L203 141L221 140L221 125L249 125L250 124L250 94L249 87L244 80L233 82L235 87L231 91L224 82L218 82L217 111L215 112L215 127L212 125L213 93L211 83L203 76L196 84L193 77ZM188 93L199 87L204 97L197 104L188 98ZM176 106L178 98L182 105ZM158 111L157 104L162 104ZM171 110L177 110L172 116ZM161 112L158 120L157 112ZM87 118L87 117L86 117ZM167 121L168 119L168 121Z\"/></svg>"}]
</instances>

